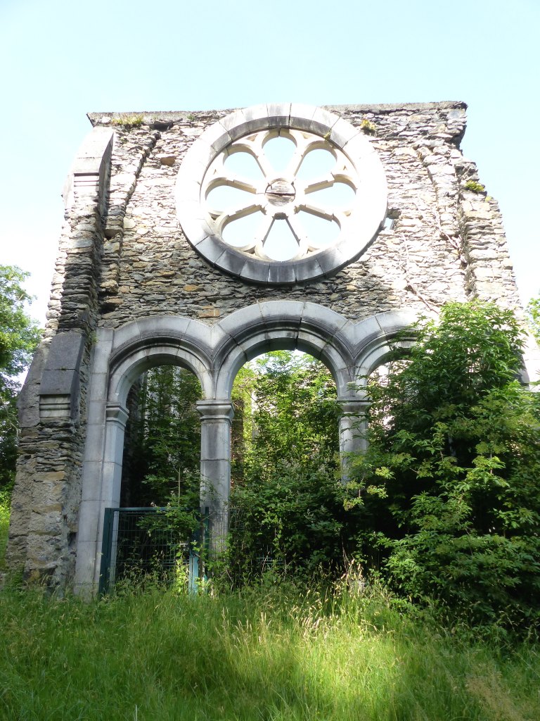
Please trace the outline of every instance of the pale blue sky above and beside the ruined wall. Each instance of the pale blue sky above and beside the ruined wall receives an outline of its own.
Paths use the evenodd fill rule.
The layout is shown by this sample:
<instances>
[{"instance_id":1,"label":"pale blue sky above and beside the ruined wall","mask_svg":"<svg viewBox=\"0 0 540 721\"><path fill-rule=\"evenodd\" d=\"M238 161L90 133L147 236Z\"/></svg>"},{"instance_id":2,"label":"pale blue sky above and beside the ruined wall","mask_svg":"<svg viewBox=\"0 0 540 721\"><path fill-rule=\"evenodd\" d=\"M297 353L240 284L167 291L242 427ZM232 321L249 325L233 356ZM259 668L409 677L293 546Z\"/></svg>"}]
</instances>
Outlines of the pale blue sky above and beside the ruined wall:
<instances>
[{"instance_id":1,"label":"pale blue sky above and beside the ruined wall","mask_svg":"<svg viewBox=\"0 0 540 721\"><path fill-rule=\"evenodd\" d=\"M539 0L0 0L1 263L42 320L88 111L464 100L462 147L540 291Z\"/></svg>"}]
</instances>

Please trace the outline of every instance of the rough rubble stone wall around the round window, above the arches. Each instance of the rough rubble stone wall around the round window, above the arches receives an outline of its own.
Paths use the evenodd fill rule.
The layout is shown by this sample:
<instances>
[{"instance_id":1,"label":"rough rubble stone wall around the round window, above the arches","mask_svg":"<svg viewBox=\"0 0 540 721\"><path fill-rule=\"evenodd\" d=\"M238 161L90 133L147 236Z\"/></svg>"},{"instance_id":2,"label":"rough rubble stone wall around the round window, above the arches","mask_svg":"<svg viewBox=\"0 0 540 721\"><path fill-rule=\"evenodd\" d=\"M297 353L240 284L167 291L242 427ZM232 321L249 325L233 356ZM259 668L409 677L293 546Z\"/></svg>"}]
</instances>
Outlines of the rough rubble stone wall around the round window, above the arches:
<instances>
[{"instance_id":1,"label":"rough rubble stone wall around the round window, above the arches","mask_svg":"<svg viewBox=\"0 0 540 721\"><path fill-rule=\"evenodd\" d=\"M230 111L143 116L150 125L173 123L161 131L116 126L114 218L109 211L109 234L115 234L104 244L100 324L118 327L162 313L212 322L258 301L306 296L351 319L404 306L436 309L472 294L518 306L498 205L465 187L479 179L459 150L464 104L327 109L352 125L373 123L370 140L387 174L393 223L363 257L309 288L238 283L199 257L179 229L174 185L181 160L194 139ZM91 120L111 122L102 115Z\"/></svg>"}]
</instances>

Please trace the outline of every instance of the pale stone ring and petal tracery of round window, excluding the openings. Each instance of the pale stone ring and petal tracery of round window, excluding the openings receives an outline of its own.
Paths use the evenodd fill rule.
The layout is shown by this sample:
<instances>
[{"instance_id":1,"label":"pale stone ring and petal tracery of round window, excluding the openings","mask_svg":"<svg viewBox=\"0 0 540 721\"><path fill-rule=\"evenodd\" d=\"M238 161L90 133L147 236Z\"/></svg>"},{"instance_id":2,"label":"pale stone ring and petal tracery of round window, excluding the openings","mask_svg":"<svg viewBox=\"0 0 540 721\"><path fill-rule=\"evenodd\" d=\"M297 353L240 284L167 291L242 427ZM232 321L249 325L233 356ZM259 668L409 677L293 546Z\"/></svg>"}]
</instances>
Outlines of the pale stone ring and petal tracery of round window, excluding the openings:
<instances>
[{"instance_id":1,"label":"pale stone ring and petal tracery of round window, excluding the openings","mask_svg":"<svg viewBox=\"0 0 540 721\"><path fill-rule=\"evenodd\" d=\"M283 130L297 143L305 147L299 154L307 152L310 143L328 146L336 158L343 156L346 167L343 177L333 177L330 182L348 182L356 190L355 200L350 209L350 215L333 213L334 219L341 226L341 233L335 243L325 249L316 244L310 244L302 231L292 224L292 231L297 237L299 253L297 257L287 261L270 260L265 257L262 238L246 239L242 248L227 244L221 235L221 230L231 219L246 214L246 208L239 209L238 213L225 218L215 216L207 208L206 195L215 183L245 185L238 179L214 177L212 172L207 174L210 166L217 171L215 162L219 164L218 156L224 151L234 152L235 143L242 139L238 149L253 148L258 144L262 146L269 133ZM261 138L257 140L257 134ZM314 137L315 136L315 137ZM301 141L304 138L304 141ZM251 145L250 145L251 143ZM216 160L218 159L218 160ZM258 155L261 167L266 168L261 155ZM288 186L294 182L294 173L287 178L271 178L270 169L266 169L266 181L287 181ZM290 176L290 177L289 177ZM249 185L249 184L248 184ZM251 187L251 186L250 186ZM249 189L248 189L249 190ZM261 190L260 193L256 192ZM257 189L251 187L250 192L256 192L259 197L257 210L260 210L269 219L275 213L282 213L284 218L294 218L295 203L289 203L286 208L274 208L268 202L267 188ZM300 193L303 197L303 194ZM308 197L308 196L306 196ZM300 198L296 205L302 206ZM300 203L300 205L299 205ZM305 203L304 203L305 204ZM259 207L260 206L260 207ZM302 206L303 207L303 206ZM312 209L315 214L320 211ZM208 262L220 270L243 280L255 283L271 283L292 285L304 280L313 280L325 275L336 273L344 265L356 260L362 252L373 242L384 222L387 211L387 185L384 169L369 140L359 130L339 118L332 112L322 108L297 104L261 105L248 107L244 110L227 115L217 123L207 128L197 141L193 143L184 157L176 181L176 211L179 221L194 249ZM270 212L271 211L271 212ZM354 222L353 222L354 221Z\"/></svg>"}]
</instances>

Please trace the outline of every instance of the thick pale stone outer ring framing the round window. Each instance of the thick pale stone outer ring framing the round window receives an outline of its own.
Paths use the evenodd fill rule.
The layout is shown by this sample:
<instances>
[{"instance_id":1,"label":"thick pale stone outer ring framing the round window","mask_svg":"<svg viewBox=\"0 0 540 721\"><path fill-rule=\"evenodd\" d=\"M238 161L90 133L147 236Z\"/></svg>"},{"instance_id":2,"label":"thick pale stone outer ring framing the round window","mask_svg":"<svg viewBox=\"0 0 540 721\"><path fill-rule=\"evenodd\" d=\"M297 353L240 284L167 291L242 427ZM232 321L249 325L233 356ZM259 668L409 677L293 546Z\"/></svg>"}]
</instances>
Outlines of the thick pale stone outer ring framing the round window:
<instances>
[{"instance_id":1,"label":"thick pale stone outer ring framing the round window","mask_svg":"<svg viewBox=\"0 0 540 721\"><path fill-rule=\"evenodd\" d=\"M235 249L212 228L201 201L204 177L215 158L230 143L274 128L306 131L328 141L346 155L359 178L354 222L328 248L296 260L265 260ZM333 275L365 252L386 218L387 183L363 131L335 113L297 103L256 105L226 115L194 141L177 176L176 212L186 239L211 265L251 283L290 286Z\"/></svg>"}]
</instances>

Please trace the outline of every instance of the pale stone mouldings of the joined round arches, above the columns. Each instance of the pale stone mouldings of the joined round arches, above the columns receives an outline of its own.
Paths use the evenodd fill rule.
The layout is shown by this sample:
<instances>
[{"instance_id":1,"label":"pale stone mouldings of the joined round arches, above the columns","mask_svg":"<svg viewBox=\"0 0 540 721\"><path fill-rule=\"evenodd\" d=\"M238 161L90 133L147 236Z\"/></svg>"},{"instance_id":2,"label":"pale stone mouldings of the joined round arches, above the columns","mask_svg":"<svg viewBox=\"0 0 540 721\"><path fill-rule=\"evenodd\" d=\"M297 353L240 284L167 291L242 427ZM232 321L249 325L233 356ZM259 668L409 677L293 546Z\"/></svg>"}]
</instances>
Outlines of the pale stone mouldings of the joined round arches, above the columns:
<instances>
[{"instance_id":1,"label":"pale stone mouldings of the joined round arches, above the columns","mask_svg":"<svg viewBox=\"0 0 540 721\"><path fill-rule=\"evenodd\" d=\"M264 301L216 324L179 316L152 316L114 331L108 402L125 404L136 378L152 366L173 363L197 375L204 399L229 399L238 370L268 350L303 350L330 370L338 395L347 397L359 375L369 375L396 347L395 337L415 315L387 311L353 322L325 306ZM410 341L400 341L406 347Z\"/></svg>"}]
</instances>

